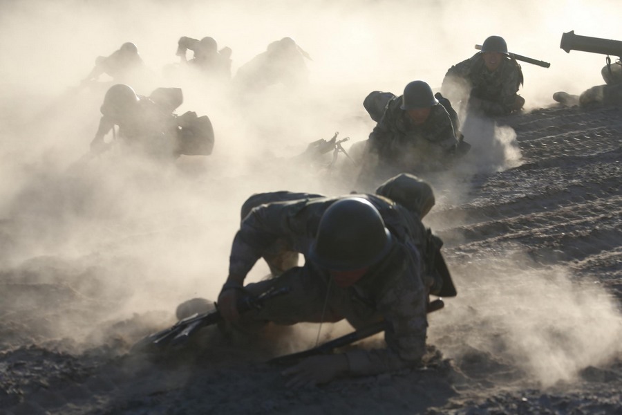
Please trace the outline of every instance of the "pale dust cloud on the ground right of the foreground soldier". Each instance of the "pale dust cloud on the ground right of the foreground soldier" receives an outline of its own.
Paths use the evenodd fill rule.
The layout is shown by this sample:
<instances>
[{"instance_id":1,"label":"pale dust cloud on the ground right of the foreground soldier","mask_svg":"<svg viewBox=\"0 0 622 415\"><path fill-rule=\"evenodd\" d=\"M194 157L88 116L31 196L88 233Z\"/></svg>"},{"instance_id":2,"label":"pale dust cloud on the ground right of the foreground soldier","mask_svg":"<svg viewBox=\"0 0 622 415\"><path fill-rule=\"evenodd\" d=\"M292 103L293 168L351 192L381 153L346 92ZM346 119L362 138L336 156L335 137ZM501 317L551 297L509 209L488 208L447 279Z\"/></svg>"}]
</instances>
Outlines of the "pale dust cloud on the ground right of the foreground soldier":
<instances>
[{"instance_id":1,"label":"pale dust cloud on the ground right of the foreground soldier","mask_svg":"<svg viewBox=\"0 0 622 415\"><path fill-rule=\"evenodd\" d=\"M622 355L622 315L612 295L565 268L536 270L518 252L507 257L460 266L460 295L442 319L431 317L431 342L451 358L498 366L509 378L518 370L542 387Z\"/></svg>"}]
</instances>

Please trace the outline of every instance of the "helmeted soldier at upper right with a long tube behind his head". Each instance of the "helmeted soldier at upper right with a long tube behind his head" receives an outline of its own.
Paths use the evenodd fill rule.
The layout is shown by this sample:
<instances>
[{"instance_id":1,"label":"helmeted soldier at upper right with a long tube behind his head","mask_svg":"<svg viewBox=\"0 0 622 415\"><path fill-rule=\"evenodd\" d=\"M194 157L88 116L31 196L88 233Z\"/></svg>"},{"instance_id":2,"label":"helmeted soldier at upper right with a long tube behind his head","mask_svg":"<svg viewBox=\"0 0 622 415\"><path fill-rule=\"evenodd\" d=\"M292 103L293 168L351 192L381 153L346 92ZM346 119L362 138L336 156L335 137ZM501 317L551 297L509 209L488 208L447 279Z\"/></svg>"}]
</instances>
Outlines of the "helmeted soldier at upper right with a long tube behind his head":
<instances>
[{"instance_id":1,"label":"helmeted soldier at upper right with a long tube behind his head","mask_svg":"<svg viewBox=\"0 0 622 415\"><path fill-rule=\"evenodd\" d=\"M505 116L525 104L517 94L522 82L522 70L509 55L505 39L490 36L480 52L449 68L441 91L451 102L468 100L468 111Z\"/></svg>"}]
</instances>

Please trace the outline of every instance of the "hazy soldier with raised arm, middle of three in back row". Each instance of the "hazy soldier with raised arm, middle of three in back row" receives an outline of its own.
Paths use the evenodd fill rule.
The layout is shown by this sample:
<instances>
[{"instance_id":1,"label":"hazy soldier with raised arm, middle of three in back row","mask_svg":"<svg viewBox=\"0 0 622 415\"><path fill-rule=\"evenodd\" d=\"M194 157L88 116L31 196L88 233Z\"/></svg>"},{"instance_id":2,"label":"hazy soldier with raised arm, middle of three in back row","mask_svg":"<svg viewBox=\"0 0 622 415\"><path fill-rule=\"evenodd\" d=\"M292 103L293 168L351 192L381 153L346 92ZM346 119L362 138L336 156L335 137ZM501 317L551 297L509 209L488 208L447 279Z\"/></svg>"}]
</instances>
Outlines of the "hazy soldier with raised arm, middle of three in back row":
<instances>
[{"instance_id":1,"label":"hazy soldier with raised arm, middle of three in back row","mask_svg":"<svg viewBox=\"0 0 622 415\"><path fill-rule=\"evenodd\" d=\"M194 56L187 60L187 50L192 50ZM213 37L203 37L200 40L182 36L177 43L176 55L180 57L182 63L187 63L191 67L223 80L231 78L231 48L218 50L218 44Z\"/></svg>"}]
</instances>

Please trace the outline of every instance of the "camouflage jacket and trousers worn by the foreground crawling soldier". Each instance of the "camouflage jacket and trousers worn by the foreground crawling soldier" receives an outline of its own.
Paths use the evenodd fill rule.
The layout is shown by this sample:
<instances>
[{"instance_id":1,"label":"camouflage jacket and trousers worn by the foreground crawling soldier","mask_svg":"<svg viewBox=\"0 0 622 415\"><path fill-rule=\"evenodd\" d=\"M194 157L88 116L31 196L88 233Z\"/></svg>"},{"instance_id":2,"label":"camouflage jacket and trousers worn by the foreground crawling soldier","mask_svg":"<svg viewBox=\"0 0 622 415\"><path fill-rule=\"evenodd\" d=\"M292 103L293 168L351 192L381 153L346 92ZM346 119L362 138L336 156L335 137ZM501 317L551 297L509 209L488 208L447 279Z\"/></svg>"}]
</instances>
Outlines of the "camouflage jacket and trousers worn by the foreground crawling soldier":
<instances>
[{"instance_id":1,"label":"camouflage jacket and trousers worn by the foreground crawling soldier","mask_svg":"<svg viewBox=\"0 0 622 415\"><path fill-rule=\"evenodd\" d=\"M290 199L299 196L303 199ZM292 288L288 295L271 299L256 311L253 320L295 324L337 322L345 318L360 329L384 318L387 347L346 353L350 373L377 374L417 365L425 352L428 325L428 284L422 277L426 229L415 212L389 199L371 194L357 196L377 208L393 234L388 255L348 288L331 283L328 270L310 259L304 266L290 268L280 277L248 284L245 289L251 293L263 292L270 286ZM287 192L254 197L250 205L272 198L280 201L258 205L245 216L234 239L230 276L247 275L256 261L279 241L307 255L323 212L339 200Z\"/></svg>"}]
</instances>

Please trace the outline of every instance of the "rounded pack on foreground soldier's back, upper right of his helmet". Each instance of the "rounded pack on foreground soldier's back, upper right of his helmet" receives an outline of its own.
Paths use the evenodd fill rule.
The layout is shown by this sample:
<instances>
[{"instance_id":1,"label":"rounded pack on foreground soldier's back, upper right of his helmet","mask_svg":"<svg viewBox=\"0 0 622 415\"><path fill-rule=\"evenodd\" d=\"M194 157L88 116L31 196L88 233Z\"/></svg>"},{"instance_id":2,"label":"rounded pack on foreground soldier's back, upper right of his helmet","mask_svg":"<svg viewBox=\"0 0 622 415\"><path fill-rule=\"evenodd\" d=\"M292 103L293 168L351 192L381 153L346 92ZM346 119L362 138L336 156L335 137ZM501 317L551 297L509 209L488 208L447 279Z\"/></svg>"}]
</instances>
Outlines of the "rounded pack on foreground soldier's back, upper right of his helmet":
<instances>
[{"instance_id":1,"label":"rounded pack on foreground soldier's back, upper right of his helmet","mask_svg":"<svg viewBox=\"0 0 622 415\"><path fill-rule=\"evenodd\" d=\"M419 214L420 218L426 216L436 203L432 187L409 173L398 174L388 179L376 189L375 193Z\"/></svg>"}]
</instances>

